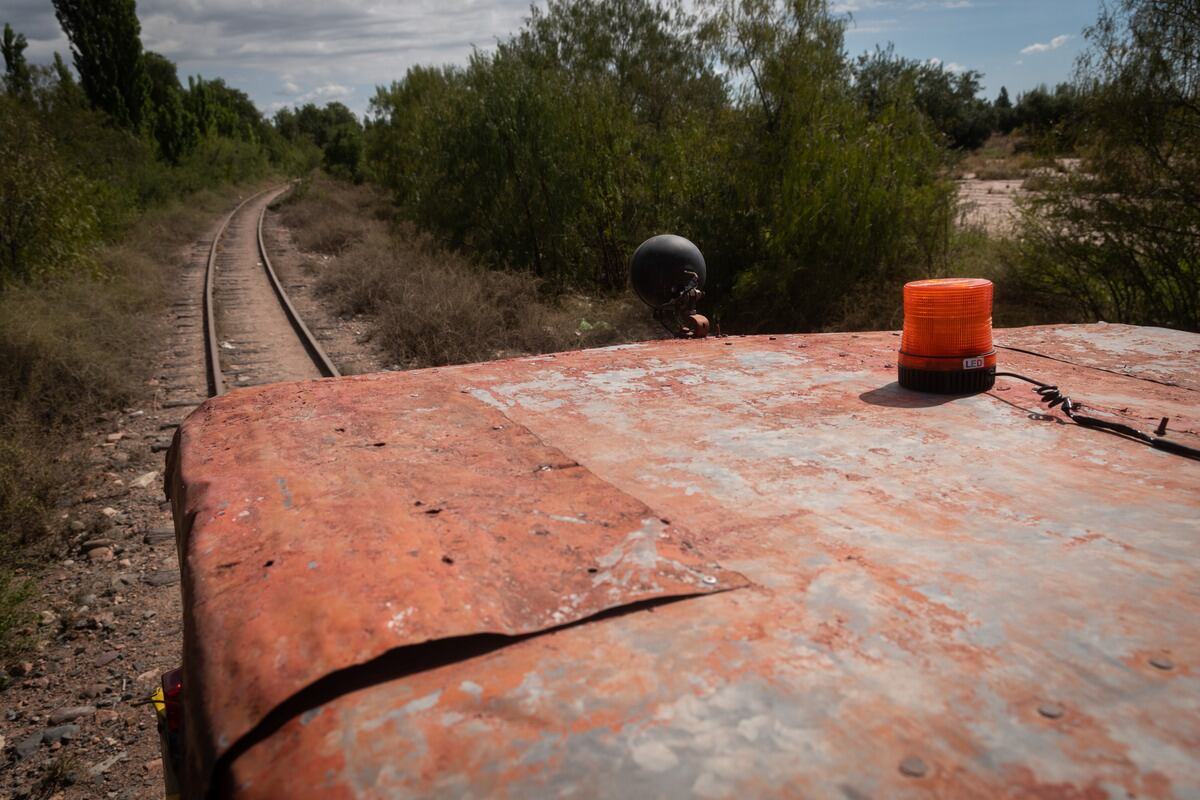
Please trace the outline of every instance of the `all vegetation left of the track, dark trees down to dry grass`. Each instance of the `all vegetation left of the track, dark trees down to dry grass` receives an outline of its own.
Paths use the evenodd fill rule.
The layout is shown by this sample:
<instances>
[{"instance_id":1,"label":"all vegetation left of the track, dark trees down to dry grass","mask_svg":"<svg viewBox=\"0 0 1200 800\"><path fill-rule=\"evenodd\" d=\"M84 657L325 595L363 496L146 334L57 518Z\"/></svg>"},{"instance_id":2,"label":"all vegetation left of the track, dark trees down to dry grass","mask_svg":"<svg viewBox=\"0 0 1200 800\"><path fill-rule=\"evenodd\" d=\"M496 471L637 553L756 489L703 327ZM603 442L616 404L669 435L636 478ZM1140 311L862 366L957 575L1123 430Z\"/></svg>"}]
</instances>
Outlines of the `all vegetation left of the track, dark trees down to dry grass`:
<instances>
[{"instance_id":1,"label":"all vegetation left of the track, dark trees down to dry grass","mask_svg":"<svg viewBox=\"0 0 1200 800\"><path fill-rule=\"evenodd\" d=\"M11 25L0 41L0 652L31 591L11 569L46 539L70 432L137 391L162 267L223 205L204 190L298 162L245 94L185 88L143 52L132 0L54 5L74 72L30 65Z\"/></svg>"}]
</instances>

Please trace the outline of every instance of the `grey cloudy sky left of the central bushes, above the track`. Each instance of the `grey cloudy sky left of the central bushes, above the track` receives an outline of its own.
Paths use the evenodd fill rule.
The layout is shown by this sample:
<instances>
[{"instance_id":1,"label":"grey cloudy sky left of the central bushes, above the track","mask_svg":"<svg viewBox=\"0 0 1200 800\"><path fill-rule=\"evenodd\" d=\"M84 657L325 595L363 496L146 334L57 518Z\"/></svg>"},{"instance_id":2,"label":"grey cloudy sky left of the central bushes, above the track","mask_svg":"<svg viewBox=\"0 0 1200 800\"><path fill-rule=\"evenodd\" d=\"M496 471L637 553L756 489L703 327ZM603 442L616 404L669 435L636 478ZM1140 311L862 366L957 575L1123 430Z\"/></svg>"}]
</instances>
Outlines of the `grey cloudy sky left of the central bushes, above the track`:
<instances>
[{"instance_id":1,"label":"grey cloudy sky left of the central bushes, above the track","mask_svg":"<svg viewBox=\"0 0 1200 800\"><path fill-rule=\"evenodd\" d=\"M70 61L48 0L0 1L0 23L26 34L30 61L44 64L55 49ZM175 61L180 76L224 77L264 106L346 98L353 86L362 106L372 85L410 66L461 64L472 47L494 47L521 26L529 2L138 0L138 17L143 44Z\"/></svg>"}]
</instances>

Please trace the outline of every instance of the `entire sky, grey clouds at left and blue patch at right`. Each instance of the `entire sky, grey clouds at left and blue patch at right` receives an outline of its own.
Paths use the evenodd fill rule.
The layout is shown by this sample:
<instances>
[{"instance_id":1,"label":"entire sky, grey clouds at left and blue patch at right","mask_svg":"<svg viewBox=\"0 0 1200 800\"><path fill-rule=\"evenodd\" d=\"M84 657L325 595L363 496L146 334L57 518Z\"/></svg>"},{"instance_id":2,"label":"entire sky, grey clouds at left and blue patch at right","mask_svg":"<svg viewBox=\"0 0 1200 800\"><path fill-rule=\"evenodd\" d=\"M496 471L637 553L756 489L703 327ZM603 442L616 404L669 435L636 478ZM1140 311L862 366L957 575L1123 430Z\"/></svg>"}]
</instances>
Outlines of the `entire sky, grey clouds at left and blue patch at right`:
<instances>
[{"instance_id":1,"label":"entire sky, grey clouds at left and blue patch at right","mask_svg":"<svg viewBox=\"0 0 1200 800\"><path fill-rule=\"evenodd\" d=\"M695 0L691 0L692 2ZM539 5L544 5L539 0ZM896 53L984 73L984 94L1016 95L1070 76L1099 0L832 0L850 17L852 54ZM142 41L180 77L224 78L268 114L340 101L362 114L374 88L415 64L464 62L521 26L529 0L140 0ZM0 23L25 34L26 58L70 48L50 0L4 0ZM67 59L70 61L70 58Z\"/></svg>"}]
</instances>

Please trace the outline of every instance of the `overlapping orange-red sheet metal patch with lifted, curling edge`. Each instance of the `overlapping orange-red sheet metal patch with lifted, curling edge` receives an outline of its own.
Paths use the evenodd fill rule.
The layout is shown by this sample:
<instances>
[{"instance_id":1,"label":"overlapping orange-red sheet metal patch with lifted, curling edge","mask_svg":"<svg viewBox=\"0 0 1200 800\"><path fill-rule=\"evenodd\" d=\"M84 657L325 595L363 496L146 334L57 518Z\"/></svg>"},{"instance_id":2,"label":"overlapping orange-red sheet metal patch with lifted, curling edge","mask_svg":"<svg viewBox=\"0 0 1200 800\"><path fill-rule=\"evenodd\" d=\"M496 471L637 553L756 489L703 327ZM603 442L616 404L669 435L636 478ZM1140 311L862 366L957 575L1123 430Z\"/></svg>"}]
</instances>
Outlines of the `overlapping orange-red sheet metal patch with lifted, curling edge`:
<instances>
[{"instance_id":1,"label":"overlapping orange-red sheet metal patch with lifted, curling edge","mask_svg":"<svg viewBox=\"0 0 1200 800\"><path fill-rule=\"evenodd\" d=\"M192 782L290 694L394 648L745 585L437 375L232 392L169 461Z\"/></svg>"}]
</instances>

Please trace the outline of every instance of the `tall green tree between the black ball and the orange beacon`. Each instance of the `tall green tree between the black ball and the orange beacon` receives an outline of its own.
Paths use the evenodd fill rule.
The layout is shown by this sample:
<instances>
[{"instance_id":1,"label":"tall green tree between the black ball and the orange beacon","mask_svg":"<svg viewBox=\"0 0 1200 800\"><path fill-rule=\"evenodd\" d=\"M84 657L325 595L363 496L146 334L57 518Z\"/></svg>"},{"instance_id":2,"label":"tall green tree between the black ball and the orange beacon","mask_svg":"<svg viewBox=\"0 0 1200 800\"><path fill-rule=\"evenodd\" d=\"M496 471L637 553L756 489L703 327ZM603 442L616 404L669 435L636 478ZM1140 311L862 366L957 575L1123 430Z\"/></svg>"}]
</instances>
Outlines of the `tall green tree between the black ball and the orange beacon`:
<instances>
[{"instance_id":1,"label":"tall green tree between the black ball and the orange beacon","mask_svg":"<svg viewBox=\"0 0 1200 800\"><path fill-rule=\"evenodd\" d=\"M864 287L928 273L944 252L953 191L943 151L906 86L869 107L844 55L845 20L824 0L734 0L721 58L740 86L736 148L722 172L737 242L744 330L816 330ZM744 127L743 127L744 126ZM718 228L720 230L720 228ZM714 261L718 259L713 259ZM736 271L734 271L736 270Z\"/></svg>"}]
</instances>

